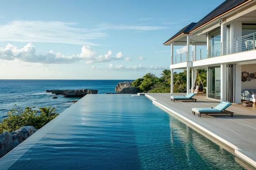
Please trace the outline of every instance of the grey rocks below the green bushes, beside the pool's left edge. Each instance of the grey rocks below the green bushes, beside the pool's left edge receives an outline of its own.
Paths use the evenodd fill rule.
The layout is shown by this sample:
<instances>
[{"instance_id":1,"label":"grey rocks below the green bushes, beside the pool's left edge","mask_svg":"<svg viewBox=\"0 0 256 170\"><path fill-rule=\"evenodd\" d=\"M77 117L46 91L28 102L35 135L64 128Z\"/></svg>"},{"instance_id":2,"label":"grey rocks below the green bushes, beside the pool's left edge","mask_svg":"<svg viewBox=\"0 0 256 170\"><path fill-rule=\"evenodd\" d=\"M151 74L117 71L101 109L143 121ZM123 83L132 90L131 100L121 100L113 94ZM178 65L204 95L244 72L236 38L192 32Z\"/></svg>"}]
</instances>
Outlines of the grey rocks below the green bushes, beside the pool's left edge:
<instances>
[{"instance_id":1,"label":"grey rocks below the green bushes, beside the pool's left edge","mask_svg":"<svg viewBox=\"0 0 256 170\"><path fill-rule=\"evenodd\" d=\"M33 126L22 126L14 132L4 131L0 135L0 158L36 132Z\"/></svg>"}]
</instances>

